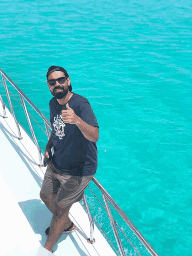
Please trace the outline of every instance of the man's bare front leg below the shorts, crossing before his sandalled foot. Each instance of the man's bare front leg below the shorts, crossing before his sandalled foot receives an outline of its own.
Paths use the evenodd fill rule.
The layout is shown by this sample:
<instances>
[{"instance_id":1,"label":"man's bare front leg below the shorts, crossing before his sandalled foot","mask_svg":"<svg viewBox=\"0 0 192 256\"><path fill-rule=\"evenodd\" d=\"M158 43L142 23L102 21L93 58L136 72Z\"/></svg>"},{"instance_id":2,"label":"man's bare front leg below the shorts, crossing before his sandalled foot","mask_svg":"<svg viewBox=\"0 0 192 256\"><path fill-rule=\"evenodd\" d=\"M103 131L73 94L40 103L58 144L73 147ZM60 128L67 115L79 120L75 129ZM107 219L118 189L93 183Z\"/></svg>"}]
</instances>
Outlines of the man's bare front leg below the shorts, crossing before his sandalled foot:
<instances>
[{"instance_id":1,"label":"man's bare front leg below the shorts, crossing before his sandalled foot","mask_svg":"<svg viewBox=\"0 0 192 256\"><path fill-rule=\"evenodd\" d=\"M48 238L44 248L52 252L54 245L62 234L63 230L67 229L71 224L69 218L69 210L71 206L66 206L64 208L56 205L56 211L53 214L53 218L50 225L50 230Z\"/></svg>"}]
</instances>

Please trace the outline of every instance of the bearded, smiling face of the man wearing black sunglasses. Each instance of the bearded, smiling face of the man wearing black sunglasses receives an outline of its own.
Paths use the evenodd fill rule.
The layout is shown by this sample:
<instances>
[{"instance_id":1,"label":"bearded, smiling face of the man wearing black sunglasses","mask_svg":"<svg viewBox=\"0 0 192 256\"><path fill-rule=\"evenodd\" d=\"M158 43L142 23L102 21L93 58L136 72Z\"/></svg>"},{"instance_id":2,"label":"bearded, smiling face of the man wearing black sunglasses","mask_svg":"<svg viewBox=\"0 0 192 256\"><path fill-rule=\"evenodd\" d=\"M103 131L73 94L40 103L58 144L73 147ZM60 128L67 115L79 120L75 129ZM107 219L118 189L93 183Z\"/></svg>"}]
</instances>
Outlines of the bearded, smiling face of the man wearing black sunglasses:
<instances>
[{"instance_id":1,"label":"bearded, smiling face of the man wearing black sunglasses","mask_svg":"<svg viewBox=\"0 0 192 256\"><path fill-rule=\"evenodd\" d=\"M59 81L54 81L55 79L60 79ZM54 84L54 82L56 82ZM64 98L69 91L70 78L66 78L65 74L61 71L54 71L48 76L48 87L51 94L58 100Z\"/></svg>"}]
</instances>

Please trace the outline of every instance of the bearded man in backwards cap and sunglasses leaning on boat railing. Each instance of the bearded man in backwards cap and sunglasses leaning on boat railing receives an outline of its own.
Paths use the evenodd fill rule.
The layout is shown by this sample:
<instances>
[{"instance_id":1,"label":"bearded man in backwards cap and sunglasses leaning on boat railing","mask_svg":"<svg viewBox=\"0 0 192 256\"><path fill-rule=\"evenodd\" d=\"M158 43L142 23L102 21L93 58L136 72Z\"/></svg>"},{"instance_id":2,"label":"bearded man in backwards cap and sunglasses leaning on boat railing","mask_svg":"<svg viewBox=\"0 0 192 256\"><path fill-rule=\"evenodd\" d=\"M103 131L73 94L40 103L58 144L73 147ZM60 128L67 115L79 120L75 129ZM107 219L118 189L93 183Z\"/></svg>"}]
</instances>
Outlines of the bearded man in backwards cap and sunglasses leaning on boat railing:
<instances>
[{"instance_id":1,"label":"bearded man in backwards cap and sunglasses leaning on boat railing","mask_svg":"<svg viewBox=\"0 0 192 256\"><path fill-rule=\"evenodd\" d=\"M53 213L45 248L53 252L60 235L74 232L69 210L82 199L85 188L97 168L99 126L89 101L72 93L67 71L51 66L46 74L51 94L50 122L52 133L45 150L54 155L45 172L40 198Z\"/></svg>"}]
</instances>

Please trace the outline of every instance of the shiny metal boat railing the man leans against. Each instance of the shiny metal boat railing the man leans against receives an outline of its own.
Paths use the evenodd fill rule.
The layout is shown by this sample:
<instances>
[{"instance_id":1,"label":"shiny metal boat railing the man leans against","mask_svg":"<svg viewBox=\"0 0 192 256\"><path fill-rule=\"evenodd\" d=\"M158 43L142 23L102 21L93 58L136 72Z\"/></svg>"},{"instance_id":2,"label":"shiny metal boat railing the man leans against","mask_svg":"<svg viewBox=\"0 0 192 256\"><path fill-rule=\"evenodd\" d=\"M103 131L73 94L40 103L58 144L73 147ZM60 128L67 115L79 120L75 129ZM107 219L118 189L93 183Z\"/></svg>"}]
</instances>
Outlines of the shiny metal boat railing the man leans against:
<instances>
[{"instance_id":1,"label":"shiny metal boat railing the man leans against","mask_svg":"<svg viewBox=\"0 0 192 256\"><path fill-rule=\"evenodd\" d=\"M6 91L6 96L8 99L8 103L10 106L10 110L11 110L11 114L14 118L14 121L16 123L16 127L18 130L18 139L22 140L22 134L20 131L20 126L19 126L19 122L16 119L15 113L14 113L14 108L12 106L12 101L10 98L10 92L8 90L8 86L6 83L6 80L10 82L10 84L12 86L14 86L14 88L17 90L21 103L22 103L22 107L24 109L25 115L26 115L26 119L28 121L31 133L32 133L32 137L34 139L34 142L36 144L37 150L38 150L38 156L39 156L39 164L38 166L43 167L43 162L42 162L42 154L41 154L41 148L38 144L38 140L36 138L32 123L30 121L30 117L29 117L29 112L27 110L26 104L25 104L25 100L26 102L28 102L30 104L30 106L32 106L32 108L38 113L38 115L42 118L42 120L44 121L44 125L45 125L45 129L46 129L46 134L48 136L48 139L50 138L50 130L51 129L51 124L48 121L48 119L44 116L44 114L42 114L42 112L32 103L32 101L22 92L22 90L20 90L20 88L18 86L16 86L16 84L4 73L4 71L0 68L0 73L2 76L2 82L3 82L3 86L4 89ZM5 103L2 99L2 96L0 94L0 102L2 103L2 107L3 107L3 118L6 118L6 108L5 108ZM21 104L20 104L21 105ZM52 148L52 153L53 153L53 148ZM134 232L134 234L136 235L136 237L140 240L140 242L143 244L143 246L146 248L146 250L152 255L152 256L158 256L157 252L152 248L152 246L149 244L149 242L144 238L144 236L140 233L140 231L134 226L134 224L130 221L130 219L126 216L126 214L122 211L122 209L118 206L118 204L114 201L114 199L110 196L110 194L108 194L108 192L105 190L105 188L100 184L100 182L98 182L98 180L93 177L92 178L92 182L94 182L94 184L97 186L97 188L100 190L101 194L102 194L102 198L104 201L104 204L99 200L98 196L92 191L92 189L90 188L90 186L88 186L89 190L92 192L92 194L94 195L94 197L98 200L98 202L100 203L100 205L104 208L104 210L107 212L109 220L110 220L110 224L116 239L116 243L118 246L119 251L115 248L114 244L112 243L112 241L110 240L110 238L108 238L107 234L102 230L102 228L99 226L99 224L96 222L96 220L92 217L89 206L88 206L88 202L86 200L86 196L83 196L83 202L84 202L84 206L86 209L86 212L88 214L88 218L90 221L90 238L87 239L87 241L91 244L93 244L95 242L94 239L94 222L96 222L98 228L100 229L100 231L106 236L106 238L108 239L108 242L111 244L112 248L114 249L114 251L116 252L117 255L119 256L126 256L126 252L122 246L122 242L117 230L118 229L122 232L122 234L124 235L124 237L126 238L126 240L131 244L131 246L134 248L134 250L136 251L136 253L141 256L140 252L138 251L138 249L134 246L134 244L130 241L130 239L127 237L127 235L124 233L124 230L119 226L119 224L114 220L112 211L110 209L110 204L114 207L114 209L116 210L116 212L118 212L119 216L124 220L124 222L127 224L127 226L132 230L132 232Z\"/></svg>"}]
</instances>

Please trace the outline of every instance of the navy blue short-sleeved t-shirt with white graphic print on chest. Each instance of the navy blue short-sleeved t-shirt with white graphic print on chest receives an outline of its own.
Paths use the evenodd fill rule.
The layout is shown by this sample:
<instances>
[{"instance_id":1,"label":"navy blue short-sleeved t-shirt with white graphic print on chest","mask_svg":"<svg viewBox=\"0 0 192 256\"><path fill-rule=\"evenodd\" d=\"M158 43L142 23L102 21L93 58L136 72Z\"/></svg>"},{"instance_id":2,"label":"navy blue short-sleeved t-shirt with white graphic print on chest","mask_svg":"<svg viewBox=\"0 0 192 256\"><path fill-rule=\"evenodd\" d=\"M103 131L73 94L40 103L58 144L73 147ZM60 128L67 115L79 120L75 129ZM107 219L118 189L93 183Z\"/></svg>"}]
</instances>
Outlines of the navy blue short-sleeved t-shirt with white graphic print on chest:
<instances>
[{"instance_id":1,"label":"navy blue short-sleeved t-shirt with white graphic print on chest","mask_svg":"<svg viewBox=\"0 0 192 256\"><path fill-rule=\"evenodd\" d=\"M67 103L84 122L99 128L90 103L85 97L73 93ZM97 169L96 142L87 140L76 124L63 122L61 111L67 109L66 104L58 104L54 97L50 100L49 106L54 146L52 163L64 174L75 176L95 174Z\"/></svg>"}]
</instances>

